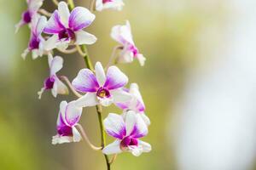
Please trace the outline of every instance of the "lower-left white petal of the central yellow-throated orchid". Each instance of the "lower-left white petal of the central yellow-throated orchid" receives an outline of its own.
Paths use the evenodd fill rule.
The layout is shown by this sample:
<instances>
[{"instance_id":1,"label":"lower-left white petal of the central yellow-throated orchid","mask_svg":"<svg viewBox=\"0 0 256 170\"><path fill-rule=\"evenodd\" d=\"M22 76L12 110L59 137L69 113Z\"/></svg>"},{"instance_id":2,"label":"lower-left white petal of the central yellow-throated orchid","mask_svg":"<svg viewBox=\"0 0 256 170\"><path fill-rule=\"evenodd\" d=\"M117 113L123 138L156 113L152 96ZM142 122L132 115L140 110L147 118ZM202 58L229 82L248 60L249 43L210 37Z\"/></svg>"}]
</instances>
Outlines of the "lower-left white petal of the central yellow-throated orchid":
<instances>
[{"instance_id":1,"label":"lower-left white petal of the central yellow-throated orchid","mask_svg":"<svg viewBox=\"0 0 256 170\"><path fill-rule=\"evenodd\" d=\"M87 93L83 97L76 100L76 105L79 107L88 107L97 105L96 93Z\"/></svg>"}]
</instances>

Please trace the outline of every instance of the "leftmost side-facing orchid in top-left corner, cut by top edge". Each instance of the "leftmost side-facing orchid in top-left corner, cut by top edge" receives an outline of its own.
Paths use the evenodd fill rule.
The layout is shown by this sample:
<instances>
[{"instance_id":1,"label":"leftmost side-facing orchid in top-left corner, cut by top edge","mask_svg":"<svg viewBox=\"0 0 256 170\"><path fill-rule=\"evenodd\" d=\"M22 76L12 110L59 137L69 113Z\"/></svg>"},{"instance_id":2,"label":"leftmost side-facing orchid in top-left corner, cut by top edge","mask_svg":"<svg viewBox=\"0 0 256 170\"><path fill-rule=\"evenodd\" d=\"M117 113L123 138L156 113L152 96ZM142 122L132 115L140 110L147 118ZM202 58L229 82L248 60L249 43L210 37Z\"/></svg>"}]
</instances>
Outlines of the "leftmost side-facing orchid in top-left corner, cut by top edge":
<instances>
[{"instance_id":1,"label":"leftmost side-facing orchid in top-left corner, cut by top edge","mask_svg":"<svg viewBox=\"0 0 256 170\"><path fill-rule=\"evenodd\" d=\"M38 9L43 5L44 0L26 0L27 9L21 14L21 20L15 25L15 32L19 31L20 26L30 24L32 19L38 15Z\"/></svg>"}]
</instances>

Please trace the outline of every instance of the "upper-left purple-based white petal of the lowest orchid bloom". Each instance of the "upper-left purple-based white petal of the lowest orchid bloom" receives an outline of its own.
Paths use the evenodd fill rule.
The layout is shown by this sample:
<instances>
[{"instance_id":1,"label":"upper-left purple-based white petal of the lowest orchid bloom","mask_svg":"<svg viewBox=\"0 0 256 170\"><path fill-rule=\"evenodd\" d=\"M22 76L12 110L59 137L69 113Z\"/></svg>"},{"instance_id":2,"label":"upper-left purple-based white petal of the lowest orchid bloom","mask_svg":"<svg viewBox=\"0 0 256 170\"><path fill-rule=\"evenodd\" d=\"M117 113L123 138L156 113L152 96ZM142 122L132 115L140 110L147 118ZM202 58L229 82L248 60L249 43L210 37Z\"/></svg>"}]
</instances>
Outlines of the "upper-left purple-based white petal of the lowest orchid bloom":
<instances>
[{"instance_id":1,"label":"upper-left purple-based white petal of the lowest orchid bloom","mask_svg":"<svg viewBox=\"0 0 256 170\"><path fill-rule=\"evenodd\" d=\"M117 139L123 139L125 136L125 122L123 116L109 113L104 119L104 127L108 135Z\"/></svg>"}]
</instances>

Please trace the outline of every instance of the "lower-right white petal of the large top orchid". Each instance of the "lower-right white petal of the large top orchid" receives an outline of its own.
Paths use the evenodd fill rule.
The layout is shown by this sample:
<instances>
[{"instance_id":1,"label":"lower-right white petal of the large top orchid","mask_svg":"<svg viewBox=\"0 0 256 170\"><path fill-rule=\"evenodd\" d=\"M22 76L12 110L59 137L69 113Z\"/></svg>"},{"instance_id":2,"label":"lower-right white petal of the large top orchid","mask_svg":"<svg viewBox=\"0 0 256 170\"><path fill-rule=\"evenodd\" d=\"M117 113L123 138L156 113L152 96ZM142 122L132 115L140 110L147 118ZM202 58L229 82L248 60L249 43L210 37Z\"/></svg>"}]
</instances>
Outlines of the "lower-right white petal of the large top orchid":
<instances>
[{"instance_id":1,"label":"lower-right white petal of the large top orchid","mask_svg":"<svg viewBox=\"0 0 256 170\"><path fill-rule=\"evenodd\" d=\"M77 45L82 45L82 44L90 45L90 44L95 43L97 40L97 38L94 35L86 32L86 31L82 31L82 30L76 31L75 34L76 34L75 44L77 44Z\"/></svg>"}]
</instances>

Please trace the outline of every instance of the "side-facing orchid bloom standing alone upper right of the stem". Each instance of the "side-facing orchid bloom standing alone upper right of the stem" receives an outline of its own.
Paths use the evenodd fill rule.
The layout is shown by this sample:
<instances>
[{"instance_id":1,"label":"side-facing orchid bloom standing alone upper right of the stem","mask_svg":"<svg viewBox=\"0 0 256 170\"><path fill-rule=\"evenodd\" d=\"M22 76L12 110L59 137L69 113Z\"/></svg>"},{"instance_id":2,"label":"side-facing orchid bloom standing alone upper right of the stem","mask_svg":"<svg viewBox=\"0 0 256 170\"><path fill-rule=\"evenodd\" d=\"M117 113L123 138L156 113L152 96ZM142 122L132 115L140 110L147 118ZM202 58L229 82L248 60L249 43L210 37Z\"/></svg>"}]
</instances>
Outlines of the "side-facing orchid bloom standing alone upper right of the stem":
<instances>
[{"instance_id":1,"label":"side-facing orchid bloom standing alone upper right of the stem","mask_svg":"<svg viewBox=\"0 0 256 170\"><path fill-rule=\"evenodd\" d=\"M131 63L134 58L138 59L140 65L145 64L145 57L140 54L131 35L131 26L129 21L126 21L125 26L113 26L111 37L122 44L122 51L120 52L118 62Z\"/></svg>"}]
</instances>

